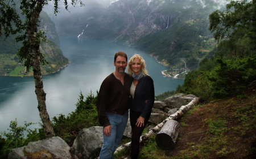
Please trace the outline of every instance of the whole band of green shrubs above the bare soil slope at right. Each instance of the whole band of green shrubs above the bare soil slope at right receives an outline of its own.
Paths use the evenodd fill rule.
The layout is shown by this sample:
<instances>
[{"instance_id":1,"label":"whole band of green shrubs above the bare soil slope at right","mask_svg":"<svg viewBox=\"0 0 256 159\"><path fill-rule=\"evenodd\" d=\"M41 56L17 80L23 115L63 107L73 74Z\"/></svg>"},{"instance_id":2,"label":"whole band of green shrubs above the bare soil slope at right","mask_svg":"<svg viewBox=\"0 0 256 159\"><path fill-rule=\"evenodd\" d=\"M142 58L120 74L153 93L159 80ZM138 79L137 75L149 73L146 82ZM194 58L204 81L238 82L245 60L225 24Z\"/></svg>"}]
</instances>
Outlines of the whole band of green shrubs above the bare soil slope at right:
<instances>
[{"instance_id":1,"label":"whole band of green shrubs above the bare soil slope at right","mask_svg":"<svg viewBox=\"0 0 256 159\"><path fill-rule=\"evenodd\" d=\"M204 60L204 63L208 65L206 61L208 60ZM201 63L200 68L205 67ZM209 71L189 72L182 87L176 91L195 94L207 101L233 96L242 93L256 79L255 69L255 57L233 58L226 61L216 59L216 66L210 66Z\"/></svg>"}]
</instances>

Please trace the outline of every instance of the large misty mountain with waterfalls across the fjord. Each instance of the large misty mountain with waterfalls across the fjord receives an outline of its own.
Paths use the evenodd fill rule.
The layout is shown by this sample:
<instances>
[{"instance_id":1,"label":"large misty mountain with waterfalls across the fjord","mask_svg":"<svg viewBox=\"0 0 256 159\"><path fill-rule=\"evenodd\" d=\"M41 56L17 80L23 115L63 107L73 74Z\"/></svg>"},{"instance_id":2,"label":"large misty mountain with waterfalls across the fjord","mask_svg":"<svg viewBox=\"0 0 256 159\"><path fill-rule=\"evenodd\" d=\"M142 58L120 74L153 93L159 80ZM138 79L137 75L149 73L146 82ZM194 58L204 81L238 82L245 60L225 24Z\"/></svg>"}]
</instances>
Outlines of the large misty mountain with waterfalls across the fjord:
<instances>
[{"instance_id":1,"label":"large misty mountain with waterfalls across the fjord","mask_svg":"<svg viewBox=\"0 0 256 159\"><path fill-rule=\"evenodd\" d=\"M57 15L60 35L94 38L143 50L170 68L193 70L213 55L216 42L209 14L229 1L119 0L108 6L89 1L72 11L72 18ZM93 4L93 5L92 5ZM67 24L67 20L70 22Z\"/></svg>"}]
</instances>

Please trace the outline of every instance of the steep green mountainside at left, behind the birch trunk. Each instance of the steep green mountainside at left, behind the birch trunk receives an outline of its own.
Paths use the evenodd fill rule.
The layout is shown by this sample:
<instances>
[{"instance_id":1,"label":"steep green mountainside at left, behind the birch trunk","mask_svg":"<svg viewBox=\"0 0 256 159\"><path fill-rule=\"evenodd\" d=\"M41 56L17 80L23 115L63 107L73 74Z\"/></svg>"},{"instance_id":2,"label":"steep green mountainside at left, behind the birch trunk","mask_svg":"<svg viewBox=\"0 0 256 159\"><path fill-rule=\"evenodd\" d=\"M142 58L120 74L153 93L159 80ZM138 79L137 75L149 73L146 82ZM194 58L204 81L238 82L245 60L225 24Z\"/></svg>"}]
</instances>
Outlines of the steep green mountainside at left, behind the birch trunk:
<instances>
[{"instance_id":1,"label":"steep green mountainside at left, behind the birch trunk","mask_svg":"<svg viewBox=\"0 0 256 159\"><path fill-rule=\"evenodd\" d=\"M42 66L42 74L49 74L67 66L69 62L59 48L60 41L55 29L55 23L53 23L46 12L41 12L39 25L46 30L47 38L47 42L40 45L40 51L48 62L45 66ZM22 46L22 43L16 43L15 37L16 35L10 36L7 40L4 40L3 37L0 38L0 75L32 76L32 71L26 72L27 70L23 63L19 62L16 53Z\"/></svg>"}]
</instances>

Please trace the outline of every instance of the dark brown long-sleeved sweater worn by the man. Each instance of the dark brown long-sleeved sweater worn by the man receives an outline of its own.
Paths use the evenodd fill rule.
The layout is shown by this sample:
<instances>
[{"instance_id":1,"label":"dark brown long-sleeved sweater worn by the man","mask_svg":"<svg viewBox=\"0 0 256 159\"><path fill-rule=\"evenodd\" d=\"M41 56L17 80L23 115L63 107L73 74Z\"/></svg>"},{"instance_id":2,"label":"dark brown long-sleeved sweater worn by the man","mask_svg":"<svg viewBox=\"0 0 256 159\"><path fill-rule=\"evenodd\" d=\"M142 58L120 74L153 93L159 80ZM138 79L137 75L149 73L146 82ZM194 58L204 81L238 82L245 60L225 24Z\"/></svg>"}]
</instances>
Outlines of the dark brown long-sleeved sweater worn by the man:
<instances>
[{"instance_id":1,"label":"dark brown long-sleeved sweater worn by the man","mask_svg":"<svg viewBox=\"0 0 256 159\"><path fill-rule=\"evenodd\" d=\"M130 108L130 87L133 78L125 73L124 84L114 74L102 81L97 99L98 121L102 126L109 126L106 111L124 112Z\"/></svg>"}]
</instances>

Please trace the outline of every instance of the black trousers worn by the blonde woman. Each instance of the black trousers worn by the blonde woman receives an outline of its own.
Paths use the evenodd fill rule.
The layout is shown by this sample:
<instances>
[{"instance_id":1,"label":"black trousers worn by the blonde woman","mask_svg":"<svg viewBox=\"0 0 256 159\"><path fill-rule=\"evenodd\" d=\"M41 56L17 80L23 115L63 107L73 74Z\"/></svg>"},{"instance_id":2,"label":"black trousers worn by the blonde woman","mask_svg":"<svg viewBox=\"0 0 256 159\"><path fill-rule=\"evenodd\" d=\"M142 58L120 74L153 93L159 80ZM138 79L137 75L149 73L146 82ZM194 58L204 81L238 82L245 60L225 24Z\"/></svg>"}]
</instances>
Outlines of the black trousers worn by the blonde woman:
<instances>
[{"instance_id":1,"label":"black trousers worn by the blonde woman","mask_svg":"<svg viewBox=\"0 0 256 159\"><path fill-rule=\"evenodd\" d=\"M145 118L144 126L138 127L136 126L137 119L141 116L141 112L130 110L130 123L131 123L131 131L133 134L131 135L131 159L138 158L139 155L139 138L148 123L149 117Z\"/></svg>"}]
</instances>

